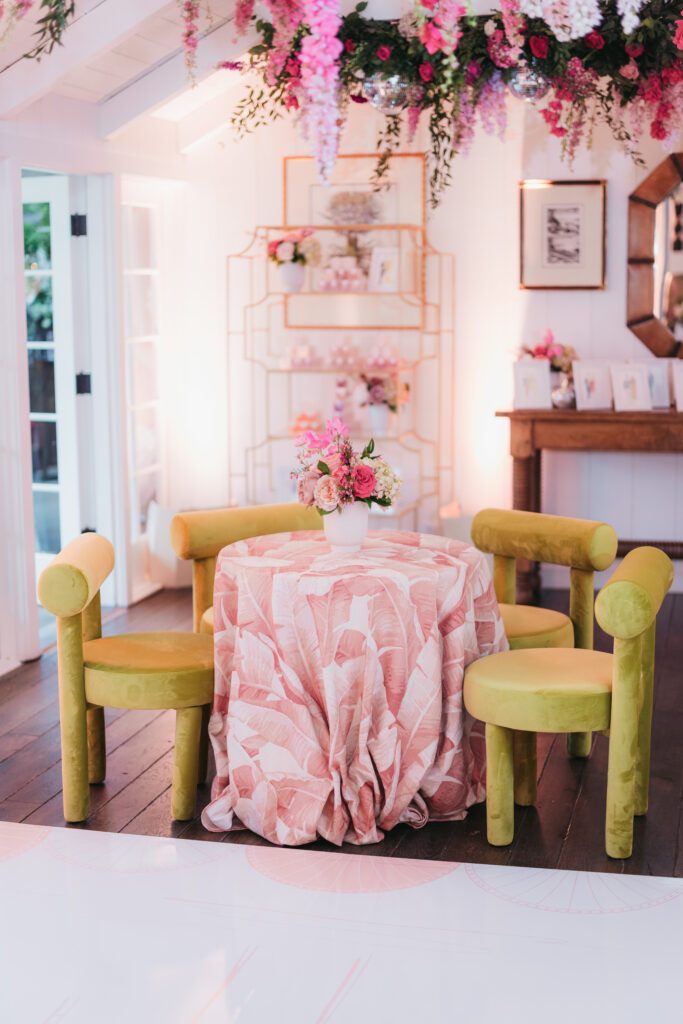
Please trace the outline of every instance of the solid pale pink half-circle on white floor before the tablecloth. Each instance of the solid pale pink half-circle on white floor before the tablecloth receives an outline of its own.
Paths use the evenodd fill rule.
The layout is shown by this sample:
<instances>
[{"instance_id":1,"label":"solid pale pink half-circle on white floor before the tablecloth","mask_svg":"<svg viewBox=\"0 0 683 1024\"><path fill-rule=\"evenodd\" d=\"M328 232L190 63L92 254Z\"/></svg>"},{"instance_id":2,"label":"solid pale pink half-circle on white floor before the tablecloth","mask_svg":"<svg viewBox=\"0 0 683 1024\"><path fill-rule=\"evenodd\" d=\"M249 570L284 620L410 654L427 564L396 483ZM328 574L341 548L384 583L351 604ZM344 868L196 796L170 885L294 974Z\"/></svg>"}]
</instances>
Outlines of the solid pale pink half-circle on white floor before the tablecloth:
<instances>
[{"instance_id":1,"label":"solid pale pink half-circle on white floor before the tablecloth","mask_svg":"<svg viewBox=\"0 0 683 1024\"><path fill-rule=\"evenodd\" d=\"M273 882L325 893L388 893L414 889L451 874L457 861L359 857L348 853L247 847L247 863Z\"/></svg>"}]
</instances>

